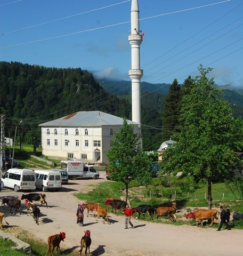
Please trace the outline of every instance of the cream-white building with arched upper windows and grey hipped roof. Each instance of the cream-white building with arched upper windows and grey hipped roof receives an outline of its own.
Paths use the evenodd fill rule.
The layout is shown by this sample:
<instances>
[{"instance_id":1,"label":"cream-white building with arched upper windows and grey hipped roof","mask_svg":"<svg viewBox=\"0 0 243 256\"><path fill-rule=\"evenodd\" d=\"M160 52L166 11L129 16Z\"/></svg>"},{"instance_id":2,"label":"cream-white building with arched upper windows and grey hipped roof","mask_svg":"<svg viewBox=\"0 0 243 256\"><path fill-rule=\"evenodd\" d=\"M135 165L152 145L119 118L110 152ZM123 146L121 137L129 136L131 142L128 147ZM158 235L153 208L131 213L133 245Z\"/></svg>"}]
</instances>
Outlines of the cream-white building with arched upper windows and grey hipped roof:
<instances>
[{"instance_id":1,"label":"cream-white building with arched upper windows and grey hipped roof","mask_svg":"<svg viewBox=\"0 0 243 256\"><path fill-rule=\"evenodd\" d=\"M127 123L134 124L134 131L138 132L138 123L129 120ZM107 164L106 151L122 125L122 118L101 111L80 111L39 124L42 127L42 154Z\"/></svg>"}]
</instances>

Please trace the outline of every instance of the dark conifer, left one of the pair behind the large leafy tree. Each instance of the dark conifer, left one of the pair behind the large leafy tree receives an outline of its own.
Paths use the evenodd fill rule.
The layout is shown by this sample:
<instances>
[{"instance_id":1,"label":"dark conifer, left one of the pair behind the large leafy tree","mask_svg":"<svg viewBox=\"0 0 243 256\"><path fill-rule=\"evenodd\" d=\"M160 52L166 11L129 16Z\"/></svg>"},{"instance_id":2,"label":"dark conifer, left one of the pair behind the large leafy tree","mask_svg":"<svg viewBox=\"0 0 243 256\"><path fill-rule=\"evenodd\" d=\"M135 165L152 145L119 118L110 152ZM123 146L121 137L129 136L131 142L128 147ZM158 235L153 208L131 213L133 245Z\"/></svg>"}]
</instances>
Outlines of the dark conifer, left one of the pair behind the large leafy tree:
<instances>
[{"instance_id":1,"label":"dark conifer, left one of the pair behind the large leafy tree","mask_svg":"<svg viewBox=\"0 0 243 256\"><path fill-rule=\"evenodd\" d=\"M165 97L165 107L163 112L162 141L171 138L177 131L180 116L181 88L177 80L174 79L169 92Z\"/></svg>"}]
</instances>

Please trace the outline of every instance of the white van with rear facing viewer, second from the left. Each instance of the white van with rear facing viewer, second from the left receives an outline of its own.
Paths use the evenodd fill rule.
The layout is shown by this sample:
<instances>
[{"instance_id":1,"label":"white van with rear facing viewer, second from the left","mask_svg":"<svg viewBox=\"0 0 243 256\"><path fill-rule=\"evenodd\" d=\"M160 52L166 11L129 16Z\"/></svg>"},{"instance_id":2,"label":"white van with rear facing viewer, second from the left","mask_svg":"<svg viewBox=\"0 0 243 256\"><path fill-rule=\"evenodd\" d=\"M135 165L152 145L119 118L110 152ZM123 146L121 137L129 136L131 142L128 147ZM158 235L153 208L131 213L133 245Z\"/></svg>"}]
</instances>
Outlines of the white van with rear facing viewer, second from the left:
<instances>
[{"instance_id":1,"label":"white van with rear facing viewer, second from the left","mask_svg":"<svg viewBox=\"0 0 243 256\"><path fill-rule=\"evenodd\" d=\"M35 170L36 188L47 190L60 190L62 187L61 173L48 170Z\"/></svg>"}]
</instances>

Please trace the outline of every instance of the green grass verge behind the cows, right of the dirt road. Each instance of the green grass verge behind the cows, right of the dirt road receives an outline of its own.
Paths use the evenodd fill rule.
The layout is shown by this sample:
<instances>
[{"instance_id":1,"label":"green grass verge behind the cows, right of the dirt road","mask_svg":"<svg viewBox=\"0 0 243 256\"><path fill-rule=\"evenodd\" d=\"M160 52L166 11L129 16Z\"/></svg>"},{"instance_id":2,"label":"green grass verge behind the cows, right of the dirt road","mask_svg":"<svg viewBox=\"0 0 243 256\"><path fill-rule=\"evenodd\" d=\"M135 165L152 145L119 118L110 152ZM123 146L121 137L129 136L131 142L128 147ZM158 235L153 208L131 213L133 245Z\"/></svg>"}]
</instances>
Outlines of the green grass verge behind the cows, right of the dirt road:
<instances>
[{"instance_id":1,"label":"green grass verge behind the cows, right of the dirt road","mask_svg":"<svg viewBox=\"0 0 243 256\"><path fill-rule=\"evenodd\" d=\"M149 186L148 191L156 190L156 193L151 193L147 197L143 197L144 194L148 192L145 188L141 187L133 187L136 185L135 181L132 181L129 184L129 197L132 197L132 206L140 205L140 204L159 204L171 201L170 198L161 196L161 195L171 195L171 188L165 188L158 185L158 179L155 178L151 182L152 186ZM101 182L98 185L93 185L93 190L88 191L88 193L76 193L75 196L78 197L81 201L86 202L96 202L100 203L101 206L104 206L104 201L106 197L112 196L119 198L120 196L124 196L123 190L125 188L124 183L116 182L116 181L107 181ZM177 188L173 188L176 190ZM178 188L179 190L180 188ZM176 194L177 205L179 209L185 208L187 211L192 210L192 207L207 207L207 199L205 199L205 193L207 196L207 185L204 183L200 183L199 187L193 193L183 193L180 192ZM224 193L224 199L223 199ZM140 195L140 196L137 196ZM214 183L212 185L212 196L213 196L213 207L218 207L223 205L225 208L229 207L231 211L243 212L243 204L242 201L239 200L240 195L237 193L232 193L232 191L225 185L225 183ZM236 200L237 198L237 200ZM111 208L107 207L108 212L111 212ZM121 215L123 213L117 213ZM177 215L178 217L178 215ZM140 217L143 219L143 216ZM148 214L145 215L145 220L149 220ZM167 218L163 217L164 220ZM168 222L161 221L161 223L172 223L173 225L196 225L195 221L192 222ZM243 229L243 221L234 222L235 227L239 229ZM217 225L213 225L213 227L217 227Z\"/></svg>"}]
</instances>

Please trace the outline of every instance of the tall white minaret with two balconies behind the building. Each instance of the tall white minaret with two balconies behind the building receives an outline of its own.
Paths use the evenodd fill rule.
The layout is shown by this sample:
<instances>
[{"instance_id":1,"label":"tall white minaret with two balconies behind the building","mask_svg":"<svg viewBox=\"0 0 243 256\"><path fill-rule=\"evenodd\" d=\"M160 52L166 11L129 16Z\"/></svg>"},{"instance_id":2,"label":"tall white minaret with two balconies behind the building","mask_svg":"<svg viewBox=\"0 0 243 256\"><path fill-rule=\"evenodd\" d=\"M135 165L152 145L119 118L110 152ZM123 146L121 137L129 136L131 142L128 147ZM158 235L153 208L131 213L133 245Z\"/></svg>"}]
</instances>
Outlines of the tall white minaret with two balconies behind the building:
<instances>
[{"instance_id":1,"label":"tall white minaret with two balconies behind the building","mask_svg":"<svg viewBox=\"0 0 243 256\"><path fill-rule=\"evenodd\" d=\"M140 44L143 37L139 30L139 3L132 0L131 7L131 35L128 36L131 44L132 68L128 71L132 79L132 121L141 123L141 103L140 103L140 79L143 70L140 69Z\"/></svg>"}]
</instances>

